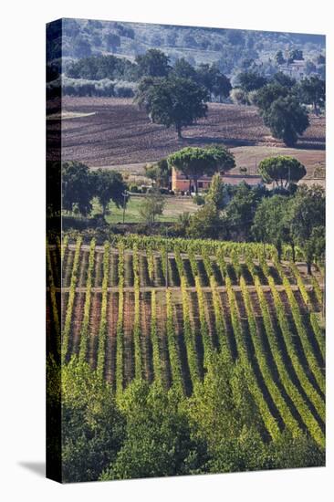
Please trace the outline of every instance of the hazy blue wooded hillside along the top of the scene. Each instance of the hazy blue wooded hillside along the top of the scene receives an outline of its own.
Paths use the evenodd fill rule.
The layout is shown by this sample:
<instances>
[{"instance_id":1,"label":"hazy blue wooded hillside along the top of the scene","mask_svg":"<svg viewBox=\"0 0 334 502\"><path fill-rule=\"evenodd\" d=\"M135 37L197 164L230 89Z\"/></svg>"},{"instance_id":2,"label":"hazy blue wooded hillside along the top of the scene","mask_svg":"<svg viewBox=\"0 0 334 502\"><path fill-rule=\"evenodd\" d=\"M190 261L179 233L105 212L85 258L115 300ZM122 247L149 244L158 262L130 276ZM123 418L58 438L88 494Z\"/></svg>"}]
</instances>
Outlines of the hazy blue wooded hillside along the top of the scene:
<instances>
[{"instance_id":1,"label":"hazy blue wooded hillside along the top of the scene","mask_svg":"<svg viewBox=\"0 0 334 502\"><path fill-rule=\"evenodd\" d=\"M224 21L217 20L217 24ZM55 25L57 29L61 21ZM325 48L321 35L235 30L199 26L167 26L85 19L63 20L63 57L82 58L109 54L134 59L150 48L160 48L173 62L186 58L194 65L216 62L228 75L244 59L256 62L275 56L277 50L301 49L308 59L317 58ZM49 60L59 57L56 29L49 29L53 40Z\"/></svg>"}]
</instances>

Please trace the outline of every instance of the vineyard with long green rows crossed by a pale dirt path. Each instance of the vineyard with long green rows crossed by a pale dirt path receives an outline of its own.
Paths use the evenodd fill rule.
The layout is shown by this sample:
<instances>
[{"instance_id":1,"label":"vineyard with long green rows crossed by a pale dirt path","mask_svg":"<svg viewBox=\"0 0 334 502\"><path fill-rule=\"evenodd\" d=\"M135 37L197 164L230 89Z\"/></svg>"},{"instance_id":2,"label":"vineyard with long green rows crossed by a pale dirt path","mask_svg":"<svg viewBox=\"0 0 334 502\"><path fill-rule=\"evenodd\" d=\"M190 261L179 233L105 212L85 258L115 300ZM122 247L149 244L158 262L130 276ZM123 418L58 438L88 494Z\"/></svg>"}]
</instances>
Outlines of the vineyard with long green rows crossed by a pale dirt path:
<instances>
[{"instance_id":1,"label":"vineyard with long green rows crossed by a pale dirt path","mask_svg":"<svg viewBox=\"0 0 334 502\"><path fill-rule=\"evenodd\" d=\"M273 246L117 237L47 246L48 343L116 395L134 378L190 396L215 353L239 361L266 431L325 443L323 274Z\"/></svg>"}]
</instances>

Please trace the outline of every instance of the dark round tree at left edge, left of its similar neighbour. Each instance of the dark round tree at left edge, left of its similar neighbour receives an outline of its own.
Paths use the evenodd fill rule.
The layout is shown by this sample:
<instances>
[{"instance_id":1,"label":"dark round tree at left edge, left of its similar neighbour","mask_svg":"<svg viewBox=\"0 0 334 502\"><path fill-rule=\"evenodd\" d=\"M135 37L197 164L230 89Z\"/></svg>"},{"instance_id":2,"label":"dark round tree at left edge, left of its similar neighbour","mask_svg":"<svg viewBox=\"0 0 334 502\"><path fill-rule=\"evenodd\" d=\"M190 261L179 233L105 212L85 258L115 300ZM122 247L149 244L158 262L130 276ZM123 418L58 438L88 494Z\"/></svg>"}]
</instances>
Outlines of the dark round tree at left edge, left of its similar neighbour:
<instances>
[{"instance_id":1,"label":"dark round tree at left edge, left of its similar neighbour","mask_svg":"<svg viewBox=\"0 0 334 502\"><path fill-rule=\"evenodd\" d=\"M62 209L72 211L73 205L77 204L81 214L89 214L91 211L90 201L94 193L92 177L87 165L81 162L63 162L61 181Z\"/></svg>"}]
</instances>

